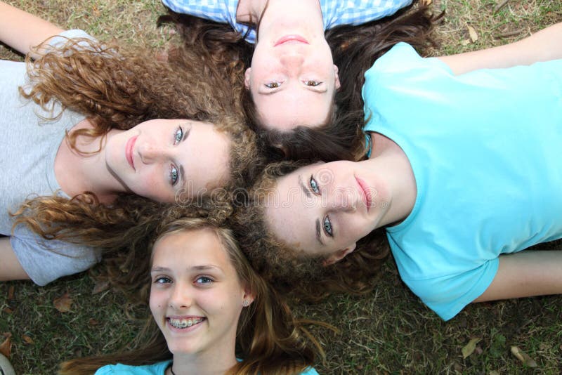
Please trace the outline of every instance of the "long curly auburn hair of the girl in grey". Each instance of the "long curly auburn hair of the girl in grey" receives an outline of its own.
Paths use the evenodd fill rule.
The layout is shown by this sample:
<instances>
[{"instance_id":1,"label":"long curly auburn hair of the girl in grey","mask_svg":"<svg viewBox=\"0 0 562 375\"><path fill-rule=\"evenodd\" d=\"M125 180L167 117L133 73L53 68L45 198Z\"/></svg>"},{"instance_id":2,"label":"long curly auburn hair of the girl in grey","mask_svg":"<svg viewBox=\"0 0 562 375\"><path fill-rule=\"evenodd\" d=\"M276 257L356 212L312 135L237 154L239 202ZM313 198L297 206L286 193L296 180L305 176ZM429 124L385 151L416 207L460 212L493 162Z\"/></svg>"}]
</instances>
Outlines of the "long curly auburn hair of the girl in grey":
<instances>
[{"instance_id":1,"label":"long curly auburn hair of the girl in grey","mask_svg":"<svg viewBox=\"0 0 562 375\"><path fill-rule=\"evenodd\" d=\"M200 49L174 46L163 61L148 49L69 39L34 62L27 59L30 85L20 93L46 110L60 103L63 110L79 112L94 124L94 129L74 132L71 144L79 134L100 137L110 129L131 129L149 119L212 122L231 139L230 180L225 187L230 190L243 186L259 166L254 133L244 126L240 110L229 105L233 93L243 88L223 84L225 79L236 81L242 70L232 67L219 76L205 69L210 62L202 60ZM72 199L34 197L15 212L14 226L25 224L48 239L110 246L169 206L132 195L100 204L91 192Z\"/></svg>"}]
</instances>

